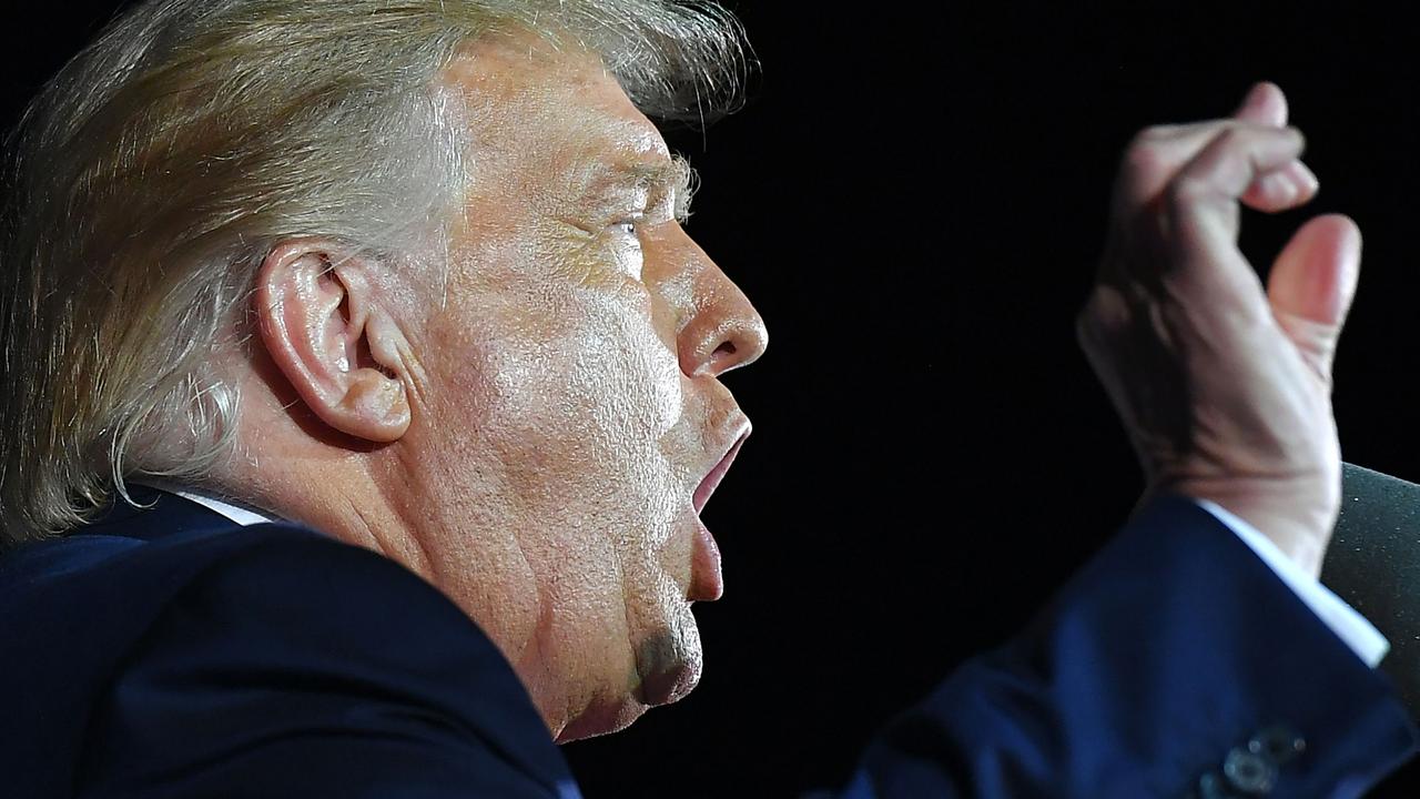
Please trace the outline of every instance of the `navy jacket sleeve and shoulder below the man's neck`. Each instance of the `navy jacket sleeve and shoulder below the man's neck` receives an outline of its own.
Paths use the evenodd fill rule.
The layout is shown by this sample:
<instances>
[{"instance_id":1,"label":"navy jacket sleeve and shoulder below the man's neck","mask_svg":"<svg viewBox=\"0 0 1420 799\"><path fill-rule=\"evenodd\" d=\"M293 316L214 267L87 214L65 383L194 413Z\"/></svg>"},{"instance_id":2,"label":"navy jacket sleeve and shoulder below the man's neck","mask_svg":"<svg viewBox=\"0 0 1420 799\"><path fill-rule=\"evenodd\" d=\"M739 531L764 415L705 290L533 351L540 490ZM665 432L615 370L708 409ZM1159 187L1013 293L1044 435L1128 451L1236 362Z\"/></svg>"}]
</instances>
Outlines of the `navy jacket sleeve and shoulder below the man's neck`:
<instances>
[{"instance_id":1,"label":"navy jacket sleeve and shoulder below the man's neck","mask_svg":"<svg viewBox=\"0 0 1420 799\"><path fill-rule=\"evenodd\" d=\"M453 603L378 554L277 533L193 579L129 655L75 796L577 796Z\"/></svg>"}]
</instances>

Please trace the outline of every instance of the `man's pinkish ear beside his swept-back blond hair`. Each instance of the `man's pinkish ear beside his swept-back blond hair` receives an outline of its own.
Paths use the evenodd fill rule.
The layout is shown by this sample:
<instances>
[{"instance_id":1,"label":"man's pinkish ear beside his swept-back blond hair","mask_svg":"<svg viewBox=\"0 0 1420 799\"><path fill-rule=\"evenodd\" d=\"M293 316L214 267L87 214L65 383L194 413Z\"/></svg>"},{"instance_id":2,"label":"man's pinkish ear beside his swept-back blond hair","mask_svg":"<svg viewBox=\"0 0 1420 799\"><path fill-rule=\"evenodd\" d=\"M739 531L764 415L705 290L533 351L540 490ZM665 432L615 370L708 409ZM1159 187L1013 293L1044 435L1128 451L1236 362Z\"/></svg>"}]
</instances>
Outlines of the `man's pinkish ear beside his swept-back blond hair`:
<instances>
[{"instance_id":1,"label":"man's pinkish ear beside his swept-back blond hair","mask_svg":"<svg viewBox=\"0 0 1420 799\"><path fill-rule=\"evenodd\" d=\"M409 429L409 353L388 310L379 264L335 242L295 239L261 263L261 341L327 425L386 444Z\"/></svg>"}]
</instances>

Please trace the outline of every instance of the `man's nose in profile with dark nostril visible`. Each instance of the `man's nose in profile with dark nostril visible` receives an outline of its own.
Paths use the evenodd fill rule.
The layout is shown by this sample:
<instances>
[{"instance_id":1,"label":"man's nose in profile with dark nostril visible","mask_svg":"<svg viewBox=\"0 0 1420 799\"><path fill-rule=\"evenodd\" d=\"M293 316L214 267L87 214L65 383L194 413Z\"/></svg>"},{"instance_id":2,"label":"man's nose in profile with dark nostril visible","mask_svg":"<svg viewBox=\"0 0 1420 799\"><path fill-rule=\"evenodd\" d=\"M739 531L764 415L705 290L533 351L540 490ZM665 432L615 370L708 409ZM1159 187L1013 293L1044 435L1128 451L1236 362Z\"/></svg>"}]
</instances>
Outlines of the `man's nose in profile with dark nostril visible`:
<instances>
[{"instance_id":1,"label":"man's nose in profile with dark nostril visible","mask_svg":"<svg viewBox=\"0 0 1420 799\"><path fill-rule=\"evenodd\" d=\"M750 365L764 354L770 333L744 291L699 247L689 314L676 348L680 371L689 377L720 377Z\"/></svg>"}]
</instances>

